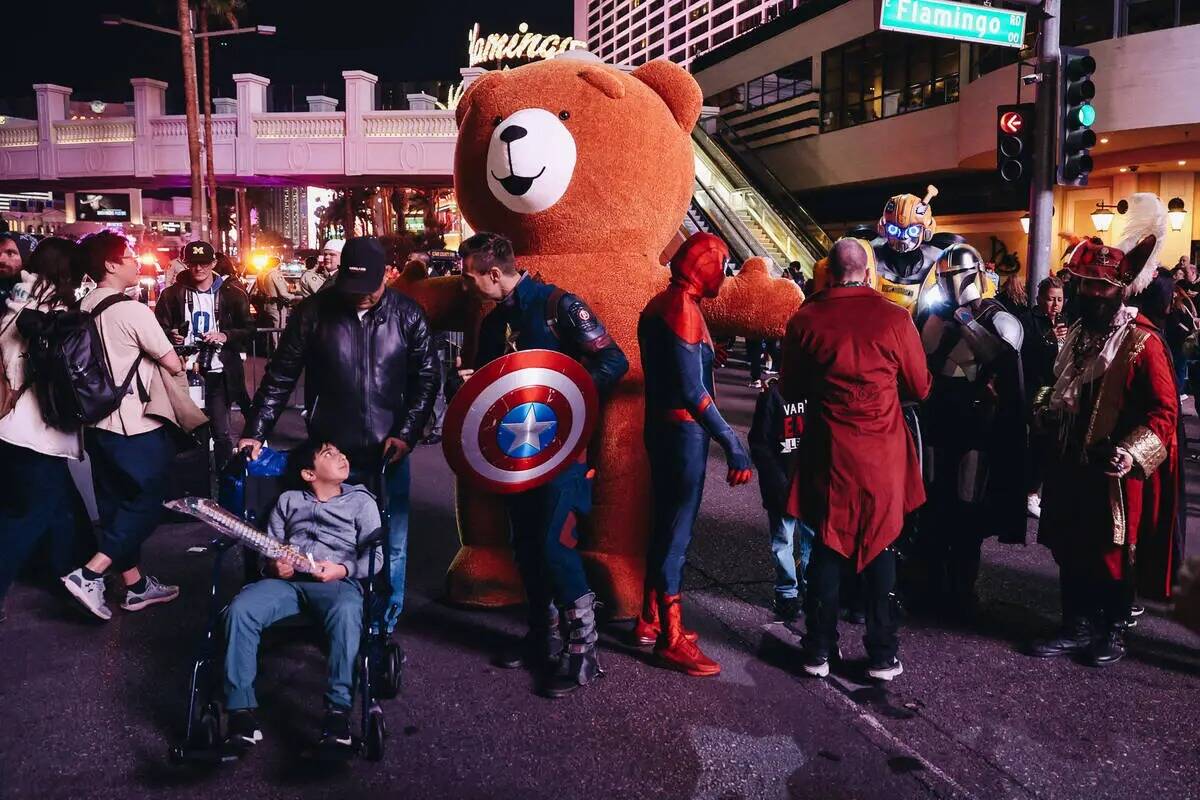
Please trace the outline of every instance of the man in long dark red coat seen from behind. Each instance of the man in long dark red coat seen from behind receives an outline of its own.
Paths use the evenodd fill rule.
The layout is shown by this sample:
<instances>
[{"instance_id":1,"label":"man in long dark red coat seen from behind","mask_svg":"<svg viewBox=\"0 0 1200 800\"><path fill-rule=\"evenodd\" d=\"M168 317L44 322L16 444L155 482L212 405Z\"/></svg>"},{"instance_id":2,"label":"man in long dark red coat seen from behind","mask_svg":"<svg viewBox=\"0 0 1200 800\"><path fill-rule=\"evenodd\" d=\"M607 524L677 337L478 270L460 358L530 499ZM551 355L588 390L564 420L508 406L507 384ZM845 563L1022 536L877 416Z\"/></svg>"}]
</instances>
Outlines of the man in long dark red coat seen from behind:
<instances>
[{"instance_id":1,"label":"man in long dark red coat seen from behind","mask_svg":"<svg viewBox=\"0 0 1200 800\"><path fill-rule=\"evenodd\" d=\"M788 513L817 533L809 561L804 670L823 678L838 656L838 584L850 561L865 583L868 673L892 680L896 658L895 553L906 513L925 501L900 401L924 399L931 378L912 318L866 284L863 242L829 253L832 285L787 324L782 385L806 402Z\"/></svg>"}]
</instances>

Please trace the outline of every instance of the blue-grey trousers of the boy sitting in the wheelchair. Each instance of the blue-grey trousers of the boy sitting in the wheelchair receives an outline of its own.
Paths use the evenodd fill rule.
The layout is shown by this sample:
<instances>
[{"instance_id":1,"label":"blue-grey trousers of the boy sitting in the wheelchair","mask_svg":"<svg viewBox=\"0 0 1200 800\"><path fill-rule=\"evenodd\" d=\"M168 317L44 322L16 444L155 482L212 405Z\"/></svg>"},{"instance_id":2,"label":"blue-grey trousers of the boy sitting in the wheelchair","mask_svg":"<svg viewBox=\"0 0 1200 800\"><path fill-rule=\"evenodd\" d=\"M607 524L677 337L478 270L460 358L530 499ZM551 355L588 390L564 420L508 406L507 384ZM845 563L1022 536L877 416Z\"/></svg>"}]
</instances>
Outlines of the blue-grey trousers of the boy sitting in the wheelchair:
<instances>
[{"instance_id":1,"label":"blue-grey trousers of the boy sitting in the wheelchair","mask_svg":"<svg viewBox=\"0 0 1200 800\"><path fill-rule=\"evenodd\" d=\"M265 578L239 591L226 610L224 690L230 711L258 706L254 678L263 631L300 613L313 616L329 636L325 700L343 709L353 704L354 660L362 633L362 589L358 582Z\"/></svg>"}]
</instances>

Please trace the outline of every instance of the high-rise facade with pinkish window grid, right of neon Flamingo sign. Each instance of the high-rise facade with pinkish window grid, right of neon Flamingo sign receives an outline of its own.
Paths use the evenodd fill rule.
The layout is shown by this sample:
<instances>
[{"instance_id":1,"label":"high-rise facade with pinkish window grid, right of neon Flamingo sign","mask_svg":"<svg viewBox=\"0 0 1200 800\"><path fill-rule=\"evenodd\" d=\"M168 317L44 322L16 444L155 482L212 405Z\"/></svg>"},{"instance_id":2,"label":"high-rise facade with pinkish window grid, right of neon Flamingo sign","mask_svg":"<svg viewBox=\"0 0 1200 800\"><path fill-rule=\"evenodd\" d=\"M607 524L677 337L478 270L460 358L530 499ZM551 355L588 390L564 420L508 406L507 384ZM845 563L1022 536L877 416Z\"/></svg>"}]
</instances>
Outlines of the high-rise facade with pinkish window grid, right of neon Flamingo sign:
<instances>
[{"instance_id":1,"label":"high-rise facade with pinkish window grid, right of neon Flamingo sign","mask_svg":"<svg viewBox=\"0 0 1200 800\"><path fill-rule=\"evenodd\" d=\"M686 67L712 48L822 0L575 0L575 38L610 64L666 58Z\"/></svg>"}]
</instances>

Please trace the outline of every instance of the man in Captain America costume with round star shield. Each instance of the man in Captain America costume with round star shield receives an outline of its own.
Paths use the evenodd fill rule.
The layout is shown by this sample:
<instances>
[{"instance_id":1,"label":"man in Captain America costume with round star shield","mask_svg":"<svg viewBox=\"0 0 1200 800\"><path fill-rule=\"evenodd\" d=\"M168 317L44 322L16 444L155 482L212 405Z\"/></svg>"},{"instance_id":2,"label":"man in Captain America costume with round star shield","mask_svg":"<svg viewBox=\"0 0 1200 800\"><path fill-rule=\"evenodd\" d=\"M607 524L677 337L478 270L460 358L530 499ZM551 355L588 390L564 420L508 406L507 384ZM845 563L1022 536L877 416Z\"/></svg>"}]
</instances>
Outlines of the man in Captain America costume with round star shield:
<instances>
[{"instance_id":1,"label":"man in Captain America costume with round star shield","mask_svg":"<svg viewBox=\"0 0 1200 800\"><path fill-rule=\"evenodd\" d=\"M540 474L542 479L552 476L527 488L535 482L529 481L520 487L523 491L491 487L506 493L512 547L529 599L529 633L518 648L503 654L497 663L508 668L532 667L540 673L544 694L564 697L601 674L596 654L595 594L588 587L582 559L576 552L576 515L587 513L592 506L592 471L583 461L588 437L586 432L580 433L576 420L590 417L588 422L594 425L595 395L604 398L629 369L629 362L580 297L517 270L512 245L504 236L476 234L462 243L460 253L468 290L497 305L480 324L475 359L480 374L458 390L457 402L448 411L445 446L448 455L454 446L470 450L464 461L486 461L488 467L484 471L492 475L503 477L505 468L520 470L526 467L524 473ZM493 421L494 437L481 435L479 428L488 425L488 413L505 397L512 397L512 392L500 392L503 396L482 403L487 408L480 407L479 414L473 404L464 417L475 423L454 435L451 431L463 427L456 409L462 409L468 398L474 403L499 392L494 386L502 373L493 369L492 379L485 365L504 356L510 344L516 350L538 350L508 357L539 360L540 366L529 369L529 374L551 375L550 379L557 381L557 391L536 395L539 386L515 385L521 381L514 381L511 375L520 371L504 371L504 380L514 381L512 390L520 390L522 402L511 408L504 405L503 416ZM552 353L542 353L545 350ZM582 362L586 374L582 369L578 372L583 389L566 374L576 365L563 367L560 362L565 359L557 354ZM485 386L475 387L478 383ZM594 389L589 384L594 384ZM556 409L556 403L564 397L571 403L570 408ZM592 398L590 413L587 397ZM559 422L570 428L569 435L558 429ZM493 452L474 452L485 440L487 450ZM568 459L566 453L557 452L562 447L575 447L578 456ZM547 457L548 461L542 461ZM551 469L556 459L558 464ZM455 461L451 457L452 464ZM565 616L565 650L559 631L559 608Z\"/></svg>"}]
</instances>

